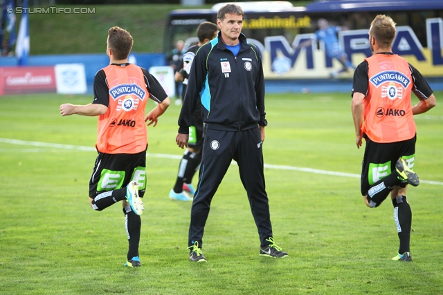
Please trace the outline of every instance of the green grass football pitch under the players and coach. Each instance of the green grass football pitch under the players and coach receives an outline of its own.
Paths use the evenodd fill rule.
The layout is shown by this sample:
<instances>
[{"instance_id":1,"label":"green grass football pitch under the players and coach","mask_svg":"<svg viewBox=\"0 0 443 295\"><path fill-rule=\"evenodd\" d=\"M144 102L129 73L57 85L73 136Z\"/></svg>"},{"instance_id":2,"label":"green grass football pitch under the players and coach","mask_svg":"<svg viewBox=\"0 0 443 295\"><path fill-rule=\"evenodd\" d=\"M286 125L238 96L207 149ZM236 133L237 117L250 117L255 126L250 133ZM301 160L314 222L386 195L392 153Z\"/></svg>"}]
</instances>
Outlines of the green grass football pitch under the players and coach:
<instances>
[{"instance_id":1,"label":"green grass football pitch under the players and coach","mask_svg":"<svg viewBox=\"0 0 443 295\"><path fill-rule=\"evenodd\" d=\"M168 198L183 154L172 104L148 127L142 267L134 269L123 266L121 205L89 207L97 118L59 113L91 96L0 97L0 294L443 294L443 93L435 97L437 106L415 117L422 183L408 190L413 263L390 260L392 204L368 209L360 196L350 93L292 93L266 96L263 146L274 238L290 257L258 255L233 164L206 225L208 263L188 260L191 203Z\"/></svg>"}]
</instances>

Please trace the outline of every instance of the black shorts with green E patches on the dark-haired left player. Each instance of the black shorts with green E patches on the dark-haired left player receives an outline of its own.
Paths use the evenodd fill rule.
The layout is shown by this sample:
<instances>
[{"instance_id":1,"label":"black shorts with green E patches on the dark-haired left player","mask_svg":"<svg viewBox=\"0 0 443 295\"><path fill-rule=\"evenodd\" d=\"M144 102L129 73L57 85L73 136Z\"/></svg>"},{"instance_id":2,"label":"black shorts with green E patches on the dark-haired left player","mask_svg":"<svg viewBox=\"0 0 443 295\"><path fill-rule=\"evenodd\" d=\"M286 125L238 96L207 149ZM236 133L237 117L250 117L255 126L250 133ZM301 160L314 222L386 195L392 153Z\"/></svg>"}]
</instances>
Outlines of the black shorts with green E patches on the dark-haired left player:
<instances>
[{"instance_id":1,"label":"black shorts with green E patches on the dark-haired left player","mask_svg":"<svg viewBox=\"0 0 443 295\"><path fill-rule=\"evenodd\" d=\"M126 187L132 180L138 182L138 193L143 197L146 189L146 151L134 154L98 153L89 180L89 197L95 198L103 191Z\"/></svg>"}]
</instances>

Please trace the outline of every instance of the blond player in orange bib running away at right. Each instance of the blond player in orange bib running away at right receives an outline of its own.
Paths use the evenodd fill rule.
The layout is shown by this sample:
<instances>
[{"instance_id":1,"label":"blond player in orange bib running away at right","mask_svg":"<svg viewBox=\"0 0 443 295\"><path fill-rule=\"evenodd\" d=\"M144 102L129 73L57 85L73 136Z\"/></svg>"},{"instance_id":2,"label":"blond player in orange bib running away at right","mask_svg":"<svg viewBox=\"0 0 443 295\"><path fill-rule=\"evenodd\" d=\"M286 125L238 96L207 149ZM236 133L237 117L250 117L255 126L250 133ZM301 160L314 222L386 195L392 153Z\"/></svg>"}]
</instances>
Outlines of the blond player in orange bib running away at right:
<instances>
[{"instance_id":1,"label":"blond player in orange bib running away at right","mask_svg":"<svg viewBox=\"0 0 443 295\"><path fill-rule=\"evenodd\" d=\"M407 184L417 186L415 162L416 127L413 115L435 106L435 96L419 71L392 53L395 22L377 15L371 23L369 41L373 55L354 72L352 117L356 146L365 139L361 168L361 195L365 204L378 207L389 193L400 240L392 260L411 261L412 212L406 200ZM411 93L419 103L412 106Z\"/></svg>"}]
</instances>

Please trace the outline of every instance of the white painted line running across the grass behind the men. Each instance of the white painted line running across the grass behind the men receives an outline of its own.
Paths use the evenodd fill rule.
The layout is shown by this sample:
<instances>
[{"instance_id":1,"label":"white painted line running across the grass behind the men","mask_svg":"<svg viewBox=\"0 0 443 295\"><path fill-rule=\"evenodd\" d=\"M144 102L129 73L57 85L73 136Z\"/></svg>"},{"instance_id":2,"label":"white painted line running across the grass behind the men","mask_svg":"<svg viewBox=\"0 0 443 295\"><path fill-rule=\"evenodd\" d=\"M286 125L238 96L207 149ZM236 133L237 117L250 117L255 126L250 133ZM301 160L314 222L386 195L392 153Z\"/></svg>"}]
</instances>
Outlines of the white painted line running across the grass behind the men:
<instances>
[{"instance_id":1,"label":"white painted line running across the grass behind the men","mask_svg":"<svg viewBox=\"0 0 443 295\"><path fill-rule=\"evenodd\" d=\"M8 138L0 138L0 142L6 143L6 144L19 144L19 145L24 145L24 146L39 146L39 147L43 147L43 148L52 148L52 149L71 149L71 150L76 150L76 151L96 151L96 149L91 146L74 146L71 144L51 144L51 143L46 143L46 142L28 142L28 141L24 141L24 140L11 140ZM3 151L8 151L8 149L0 149L0 152L3 152ZM14 150L10 149L10 151L39 152L39 151L44 151L44 149L14 149ZM146 156L152 157L152 158L166 158L166 159L174 159L174 160L180 160L182 157L181 155L168 155L165 153L146 153ZM233 161L233 164L236 164L236 162ZM264 168L300 171L300 172L316 173L316 174L323 174L323 175L342 176L342 177L348 177L348 178L360 178L359 174L326 171L326 170L311 169L311 168L304 168L304 167L264 164ZM443 182L432 181L432 180L420 180L420 182L426 183L426 184L443 185Z\"/></svg>"}]
</instances>

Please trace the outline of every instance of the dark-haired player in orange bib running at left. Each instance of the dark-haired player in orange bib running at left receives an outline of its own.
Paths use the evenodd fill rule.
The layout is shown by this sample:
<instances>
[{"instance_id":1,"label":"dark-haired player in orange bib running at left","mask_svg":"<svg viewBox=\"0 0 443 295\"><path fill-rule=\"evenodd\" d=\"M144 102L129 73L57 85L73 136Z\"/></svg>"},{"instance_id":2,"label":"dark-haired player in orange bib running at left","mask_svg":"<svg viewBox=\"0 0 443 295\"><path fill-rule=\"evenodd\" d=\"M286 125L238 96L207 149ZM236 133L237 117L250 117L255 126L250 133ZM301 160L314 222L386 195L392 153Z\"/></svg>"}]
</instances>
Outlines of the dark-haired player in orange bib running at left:
<instances>
[{"instance_id":1,"label":"dark-haired player in orange bib running at left","mask_svg":"<svg viewBox=\"0 0 443 295\"><path fill-rule=\"evenodd\" d=\"M144 68L129 64L132 36L122 28L108 31L110 63L96 73L91 104L62 104L66 115L98 116L98 156L89 180L89 201L101 211L122 201L129 250L125 265L139 267L138 244L141 232L141 198L146 189L147 129L156 126L170 99L160 83ZM145 116L147 99L158 104Z\"/></svg>"}]
</instances>

